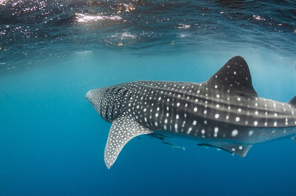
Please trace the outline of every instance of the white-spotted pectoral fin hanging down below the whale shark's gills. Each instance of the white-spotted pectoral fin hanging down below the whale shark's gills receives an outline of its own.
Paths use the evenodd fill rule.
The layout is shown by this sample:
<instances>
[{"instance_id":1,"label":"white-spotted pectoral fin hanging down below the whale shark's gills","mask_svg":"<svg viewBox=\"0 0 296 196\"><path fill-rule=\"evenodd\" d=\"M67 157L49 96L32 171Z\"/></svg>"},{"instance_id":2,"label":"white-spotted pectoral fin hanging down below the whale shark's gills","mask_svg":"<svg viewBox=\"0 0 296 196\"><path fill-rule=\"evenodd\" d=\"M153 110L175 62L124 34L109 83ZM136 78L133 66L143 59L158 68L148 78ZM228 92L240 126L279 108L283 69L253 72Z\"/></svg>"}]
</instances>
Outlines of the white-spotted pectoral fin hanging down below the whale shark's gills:
<instances>
[{"instance_id":1,"label":"white-spotted pectoral fin hanging down below the whale shark's gills","mask_svg":"<svg viewBox=\"0 0 296 196\"><path fill-rule=\"evenodd\" d=\"M137 121L127 115L116 118L111 125L107 144L104 152L104 160L108 169L115 162L123 146L133 137L149 134L153 131L141 126Z\"/></svg>"}]
</instances>

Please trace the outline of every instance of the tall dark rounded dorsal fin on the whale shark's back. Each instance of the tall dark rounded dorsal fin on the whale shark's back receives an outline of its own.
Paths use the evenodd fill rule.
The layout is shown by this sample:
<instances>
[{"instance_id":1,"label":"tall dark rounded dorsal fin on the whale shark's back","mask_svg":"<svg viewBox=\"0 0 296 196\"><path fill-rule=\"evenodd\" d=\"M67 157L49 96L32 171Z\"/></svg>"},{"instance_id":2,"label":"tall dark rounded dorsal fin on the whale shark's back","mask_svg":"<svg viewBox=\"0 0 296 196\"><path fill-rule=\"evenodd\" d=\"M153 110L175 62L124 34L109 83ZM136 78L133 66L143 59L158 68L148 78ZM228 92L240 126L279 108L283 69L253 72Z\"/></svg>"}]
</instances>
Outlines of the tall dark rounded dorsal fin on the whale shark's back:
<instances>
[{"instance_id":1,"label":"tall dark rounded dorsal fin on the whale shark's back","mask_svg":"<svg viewBox=\"0 0 296 196\"><path fill-rule=\"evenodd\" d=\"M213 89L215 86L222 86L219 89L231 95L258 97L252 85L249 66L240 56L232 57L204 83Z\"/></svg>"}]
</instances>

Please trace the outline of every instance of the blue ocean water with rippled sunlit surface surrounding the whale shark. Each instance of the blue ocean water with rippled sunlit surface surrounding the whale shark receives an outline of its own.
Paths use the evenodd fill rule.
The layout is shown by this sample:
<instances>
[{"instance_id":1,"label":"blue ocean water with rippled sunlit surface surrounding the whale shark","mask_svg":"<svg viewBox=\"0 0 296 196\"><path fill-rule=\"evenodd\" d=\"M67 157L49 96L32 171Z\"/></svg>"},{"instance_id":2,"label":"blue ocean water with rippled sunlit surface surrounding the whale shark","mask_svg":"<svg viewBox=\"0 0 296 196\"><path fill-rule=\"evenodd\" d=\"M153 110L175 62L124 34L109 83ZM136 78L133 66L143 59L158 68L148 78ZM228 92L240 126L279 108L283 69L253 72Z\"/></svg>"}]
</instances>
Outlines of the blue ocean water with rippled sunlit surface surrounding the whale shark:
<instances>
[{"instance_id":1,"label":"blue ocean water with rippled sunlit surface surrounding the whale shark","mask_svg":"<svg viewBox=\"0 0 296 196\"><path fill-rule=\"evenodd\" d=\"M0 195L294 195L292 140L241 158L140 136L104 163L91 89L203 82L247 61L259 97L296 95L295 1L0 0Z\"/></svg>"}]
</instances>

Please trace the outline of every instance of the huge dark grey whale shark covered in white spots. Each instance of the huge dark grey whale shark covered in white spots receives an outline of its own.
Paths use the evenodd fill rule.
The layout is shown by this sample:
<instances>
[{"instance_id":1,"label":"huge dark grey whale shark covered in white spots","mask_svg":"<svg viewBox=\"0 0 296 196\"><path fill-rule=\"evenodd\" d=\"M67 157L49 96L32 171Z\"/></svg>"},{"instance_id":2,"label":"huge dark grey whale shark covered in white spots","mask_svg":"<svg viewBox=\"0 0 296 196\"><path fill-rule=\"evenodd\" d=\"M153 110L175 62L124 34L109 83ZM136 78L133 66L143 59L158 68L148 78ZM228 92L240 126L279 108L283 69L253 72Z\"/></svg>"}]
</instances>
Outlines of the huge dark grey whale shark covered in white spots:
<instances>
[{"instance_id":1,"label":"huge dark grey whale shark covered in white spots","mask_svg":"<svg viewBox=\"0 0 296 196\"><path fill-rule=\"evenodd\" d=\"M296 142L296 96L286 103L258 97L240 56L202 83L134 81L91 90L86 99L112 123L104 152L107 168L141 134L190 139L241 157L253 144Z\"/></svg>"}]
</instances>

